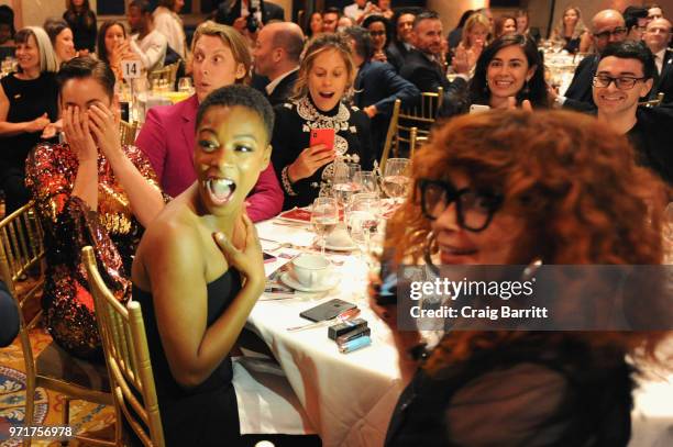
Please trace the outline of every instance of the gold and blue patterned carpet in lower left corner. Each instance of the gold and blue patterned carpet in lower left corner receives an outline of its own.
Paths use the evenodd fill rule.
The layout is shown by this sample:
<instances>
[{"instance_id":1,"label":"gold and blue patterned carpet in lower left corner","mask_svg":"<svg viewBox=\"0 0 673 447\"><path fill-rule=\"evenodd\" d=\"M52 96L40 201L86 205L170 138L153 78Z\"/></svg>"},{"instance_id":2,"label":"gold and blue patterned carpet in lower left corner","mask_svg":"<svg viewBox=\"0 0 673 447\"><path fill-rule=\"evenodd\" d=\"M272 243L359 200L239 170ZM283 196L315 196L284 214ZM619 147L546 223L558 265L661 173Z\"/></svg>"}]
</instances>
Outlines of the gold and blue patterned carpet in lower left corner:
<instances>
[{"instance_id":1,"label":"gold and blue patterned carpet in lower left corner","mask_svg":"<svg viewBox=\"0 0 673 447\"><path fill-rule=\"evenodd\" d=\"M31 332L33 355L38 355L52 342L44 328ZM9 427L23 425L25 414L25 367L19 339L0 349L0 447L20 446L18 439L8 439ZM38 388L35 400L34 425L60 425L63 395ZM88 432L96 437L112 438L114 429L112 407L89 402L70 402L70 423L75 433ZM84 446L71 442L70 446ZM36 440L33 446L60 446L58 442Z\"/></svg>"}]
</instances>

